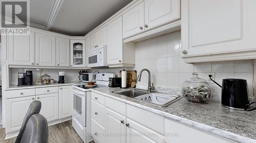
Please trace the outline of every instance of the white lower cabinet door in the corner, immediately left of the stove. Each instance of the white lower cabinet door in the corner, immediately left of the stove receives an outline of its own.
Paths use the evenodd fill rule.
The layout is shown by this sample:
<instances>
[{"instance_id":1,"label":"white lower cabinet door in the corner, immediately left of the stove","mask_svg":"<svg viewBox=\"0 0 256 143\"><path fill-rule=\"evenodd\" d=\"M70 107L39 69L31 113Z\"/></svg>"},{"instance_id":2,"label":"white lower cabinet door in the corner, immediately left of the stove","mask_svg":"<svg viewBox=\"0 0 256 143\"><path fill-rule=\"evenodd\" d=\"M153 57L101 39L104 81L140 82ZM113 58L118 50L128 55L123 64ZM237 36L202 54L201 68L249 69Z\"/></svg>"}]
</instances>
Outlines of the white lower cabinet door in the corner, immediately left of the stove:
<instances>
[{"instance_id":1,"label":"white lower cabinet door in the corner, immediately left of the stove","mask_svg":"<svg viewBox=\"0 0 256 143\"><path fill-rule=\"evenodd\" d=\"M72 86L59 87L59 119L72 116Z\"/></svg>"}]
</instances>

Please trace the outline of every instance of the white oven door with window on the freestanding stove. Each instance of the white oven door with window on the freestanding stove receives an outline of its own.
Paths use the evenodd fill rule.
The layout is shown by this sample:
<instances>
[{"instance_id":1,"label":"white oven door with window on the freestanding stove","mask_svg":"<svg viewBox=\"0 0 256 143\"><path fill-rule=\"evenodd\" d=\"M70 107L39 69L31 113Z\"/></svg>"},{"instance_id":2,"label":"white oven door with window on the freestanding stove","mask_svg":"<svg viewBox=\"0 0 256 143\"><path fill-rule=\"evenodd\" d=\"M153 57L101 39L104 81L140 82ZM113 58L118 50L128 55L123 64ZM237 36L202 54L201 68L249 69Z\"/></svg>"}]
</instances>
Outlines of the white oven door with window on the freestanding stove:
<instances>
[{"instance_id":1,"label":"white oven door with window on the freestanding stove","mask_svg":"<svg viewBox=\"0 0 256 143\"><path fill-rule=\"evenodd\" d=\"M86 92L74 88L72 116L86 127Z\"/></svg>"}]
</instances>

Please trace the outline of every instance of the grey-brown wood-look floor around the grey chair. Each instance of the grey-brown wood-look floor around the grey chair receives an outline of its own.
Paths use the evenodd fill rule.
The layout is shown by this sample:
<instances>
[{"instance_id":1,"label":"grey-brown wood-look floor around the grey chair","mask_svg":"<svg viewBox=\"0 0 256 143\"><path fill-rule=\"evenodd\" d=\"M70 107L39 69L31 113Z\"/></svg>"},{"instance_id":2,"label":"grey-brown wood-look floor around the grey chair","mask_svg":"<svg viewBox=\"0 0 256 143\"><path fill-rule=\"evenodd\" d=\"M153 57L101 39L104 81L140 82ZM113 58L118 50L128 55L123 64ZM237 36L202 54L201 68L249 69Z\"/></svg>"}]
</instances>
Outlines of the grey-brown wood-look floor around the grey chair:
<instances>
[{"instance_id":1,"label":"grey-brown wood-look floor around the grey chair","mask_svg":"<svg viewBox=\"0 0 256 143\"><path fill-rule=\"evenodd\" d=\"M1 143L14 143L16 137L5 139L5 129L0 129ZM77 135L72 127L72 121L59 123L49 127L49 143L83 143L81 138ZM94 143L94 141L90 142Z\"/></svg>"}]
</instances>

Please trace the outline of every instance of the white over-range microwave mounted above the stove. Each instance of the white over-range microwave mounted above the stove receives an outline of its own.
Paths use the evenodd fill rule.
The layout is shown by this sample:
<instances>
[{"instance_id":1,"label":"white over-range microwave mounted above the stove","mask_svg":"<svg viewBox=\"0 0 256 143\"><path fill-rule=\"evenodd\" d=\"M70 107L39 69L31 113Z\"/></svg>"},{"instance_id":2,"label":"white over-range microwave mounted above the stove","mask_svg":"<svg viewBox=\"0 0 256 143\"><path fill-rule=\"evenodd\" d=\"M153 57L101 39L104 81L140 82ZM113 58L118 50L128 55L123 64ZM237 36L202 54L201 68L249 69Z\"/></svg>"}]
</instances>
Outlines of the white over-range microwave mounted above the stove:
<instances>
[{"instance_id":1,"label":"white over-range microwave mounted above the stove","mask_svg":"<svg viewBox=\"0 0 256 143\"><path fill-rule=\"evenodd\" d=\"M106 65L106 45L102 48L92 50L87 53L88 67L90 68L104 68Z\"/></svg>"}]
</instances>

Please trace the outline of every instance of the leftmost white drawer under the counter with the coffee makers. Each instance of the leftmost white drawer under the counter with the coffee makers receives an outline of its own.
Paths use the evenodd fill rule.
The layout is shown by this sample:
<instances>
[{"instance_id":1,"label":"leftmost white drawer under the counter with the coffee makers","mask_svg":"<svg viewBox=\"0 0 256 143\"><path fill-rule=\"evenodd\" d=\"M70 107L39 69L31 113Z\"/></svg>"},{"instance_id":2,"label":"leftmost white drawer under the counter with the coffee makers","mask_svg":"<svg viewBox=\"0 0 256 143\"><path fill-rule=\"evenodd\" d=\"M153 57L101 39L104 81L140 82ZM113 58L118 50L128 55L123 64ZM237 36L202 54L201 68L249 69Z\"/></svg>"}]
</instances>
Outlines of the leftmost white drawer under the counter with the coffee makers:
<instances>
[{"instance_id":1,"label":"leftmost white drawer under the counter with the coffee makers","mask_svg":"<svg viewBox=\"0 0 256 143\"><path fill-rule=\"evenodd\" d=\"M35 89L6 91L7 99L17 97L35 96Z\"/></svg>"}]
</instances>

